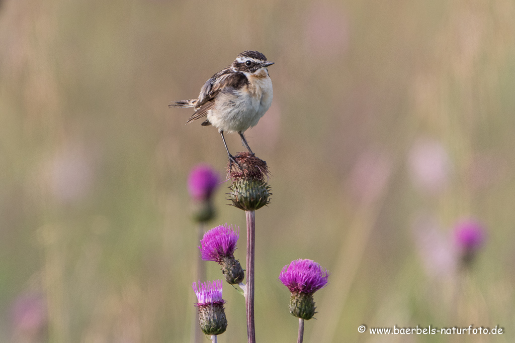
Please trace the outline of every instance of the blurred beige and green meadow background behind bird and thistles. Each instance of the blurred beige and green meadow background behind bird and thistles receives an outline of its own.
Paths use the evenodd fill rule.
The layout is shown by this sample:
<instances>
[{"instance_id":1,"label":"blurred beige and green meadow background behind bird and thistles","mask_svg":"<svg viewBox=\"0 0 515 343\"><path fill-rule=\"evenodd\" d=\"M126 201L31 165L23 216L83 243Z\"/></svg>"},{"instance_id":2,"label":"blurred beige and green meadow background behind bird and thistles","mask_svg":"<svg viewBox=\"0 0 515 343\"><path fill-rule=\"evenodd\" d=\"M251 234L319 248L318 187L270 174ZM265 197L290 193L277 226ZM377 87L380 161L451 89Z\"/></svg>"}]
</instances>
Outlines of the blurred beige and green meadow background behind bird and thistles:
<instances>
[{"instance_id":1,"label":"blurred beige and green meadow background behind bird and thistles","mask_svg":"<svg viewBox=\"0 0 515 343\"><path fill-rule=\"evenodd\" d=\"M278 276L297 258L331 272L305 342L513 341L514 22L512 0L3 0L0 341L190 341L186 179L199 163L223 179L227 154L167 106L248 49L276 62L272 107L246 134L272 175L256 213L258 341L295 341ZM209 226L241 228L244 264L227 185ZM463 219L486 231L467 270ZM224 298L219 341L244 342L244 298L228 284Z\"/></svg>"}]
</instances>

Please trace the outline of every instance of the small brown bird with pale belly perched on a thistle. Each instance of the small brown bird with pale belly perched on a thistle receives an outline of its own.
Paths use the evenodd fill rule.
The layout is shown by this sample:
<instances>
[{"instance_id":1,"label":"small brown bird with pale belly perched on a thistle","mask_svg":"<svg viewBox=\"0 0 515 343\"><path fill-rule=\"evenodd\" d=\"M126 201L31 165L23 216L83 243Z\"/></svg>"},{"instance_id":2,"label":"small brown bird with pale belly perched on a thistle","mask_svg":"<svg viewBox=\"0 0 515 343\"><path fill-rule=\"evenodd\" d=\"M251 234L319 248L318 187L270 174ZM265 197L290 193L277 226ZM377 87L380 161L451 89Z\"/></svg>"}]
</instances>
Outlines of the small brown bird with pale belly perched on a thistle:
<instances>
[{"instance_id":1,"label":"small brown bird with pale belly perched on a thistle","mask_svg":"<svg viewBox=\"0 0 515 343\"><path fill-rule=\"evenodd\" d=\"M272 64L261 52L244 51L204 83L198 99L174 101L169 107L193 107L195 112L186 124L207 117L202 126L218 129L229 160L237 165L227 148L224 132L237 132L243 145L254 154L243 133L254 127L272 104L272 80L267 69Z\"/></svg>"}]
</instances>

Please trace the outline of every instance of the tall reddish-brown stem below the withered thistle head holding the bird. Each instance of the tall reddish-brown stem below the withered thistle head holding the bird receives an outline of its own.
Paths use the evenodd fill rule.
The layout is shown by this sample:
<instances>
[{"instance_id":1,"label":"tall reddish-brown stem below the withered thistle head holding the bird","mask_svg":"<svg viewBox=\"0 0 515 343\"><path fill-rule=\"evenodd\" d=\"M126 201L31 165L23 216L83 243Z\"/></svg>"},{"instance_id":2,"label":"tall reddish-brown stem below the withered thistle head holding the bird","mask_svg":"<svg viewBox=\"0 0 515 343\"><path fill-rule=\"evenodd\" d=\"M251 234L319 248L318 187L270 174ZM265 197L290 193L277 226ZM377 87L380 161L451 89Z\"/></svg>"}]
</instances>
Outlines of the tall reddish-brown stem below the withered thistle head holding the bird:
<instances>
[{"instance_id":1,"label":"tall reddish-brown stem below the withered thistle head holding the bird","mask_svg":"<svg viewBox=\"0 0 515 343\"><path fill-rule=\"evenodd\" d=\"M248 343L255 343L254 328L254 241L255 241L255 212L245 211L247 218L247 284L245 286L245 308L247 313Z\"/></svg>"}]
</instances>

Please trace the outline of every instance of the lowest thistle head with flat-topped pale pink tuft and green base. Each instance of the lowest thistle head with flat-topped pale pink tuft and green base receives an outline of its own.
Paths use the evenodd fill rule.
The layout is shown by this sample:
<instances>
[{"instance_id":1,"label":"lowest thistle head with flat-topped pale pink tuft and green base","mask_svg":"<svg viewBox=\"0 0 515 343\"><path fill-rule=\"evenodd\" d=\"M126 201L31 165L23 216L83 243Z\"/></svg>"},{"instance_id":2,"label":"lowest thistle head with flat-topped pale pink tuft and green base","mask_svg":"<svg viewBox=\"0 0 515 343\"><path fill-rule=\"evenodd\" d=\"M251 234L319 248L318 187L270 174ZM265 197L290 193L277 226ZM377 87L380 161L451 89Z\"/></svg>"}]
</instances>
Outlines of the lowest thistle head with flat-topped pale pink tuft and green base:
<instances>
[{"instance_id":1,"label":"lowest thistle head with flat-topped pale pink tuft and green base","mask_svg":"<svg viewBox=\"0 0 515 343\"><path fill-rule=\"evenodd\" d=\"M200 329L206 335L220 335L227 329L227 318L224 310L225 300L222 299L222 281L193 283L197 295Z\"/></svg>"}]
</instances>

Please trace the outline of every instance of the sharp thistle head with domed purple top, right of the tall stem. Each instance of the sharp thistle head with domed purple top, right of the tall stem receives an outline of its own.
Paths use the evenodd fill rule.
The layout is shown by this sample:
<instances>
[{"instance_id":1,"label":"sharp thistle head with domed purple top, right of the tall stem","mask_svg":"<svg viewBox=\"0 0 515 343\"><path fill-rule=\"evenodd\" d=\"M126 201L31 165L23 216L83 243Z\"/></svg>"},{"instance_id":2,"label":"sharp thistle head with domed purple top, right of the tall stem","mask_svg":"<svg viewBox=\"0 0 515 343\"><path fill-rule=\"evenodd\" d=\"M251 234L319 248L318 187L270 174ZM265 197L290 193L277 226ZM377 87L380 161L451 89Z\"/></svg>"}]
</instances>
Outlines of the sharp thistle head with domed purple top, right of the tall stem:
<instances>
[{"instance_id":1,"label":"sharp thistle head with domed purple top, right of the tall stem","mask_svg":"<svg viewBox=\"0 0 515 343\"><path fill-rule=\"evenodd\" d=\"M312 260L299 259L285 265L279 281L291 292L290 313L305 320L313 318L316 313L313 294L327 284L328 278L328 271Z\"/></svg>"}]
</instances>

